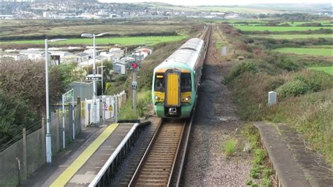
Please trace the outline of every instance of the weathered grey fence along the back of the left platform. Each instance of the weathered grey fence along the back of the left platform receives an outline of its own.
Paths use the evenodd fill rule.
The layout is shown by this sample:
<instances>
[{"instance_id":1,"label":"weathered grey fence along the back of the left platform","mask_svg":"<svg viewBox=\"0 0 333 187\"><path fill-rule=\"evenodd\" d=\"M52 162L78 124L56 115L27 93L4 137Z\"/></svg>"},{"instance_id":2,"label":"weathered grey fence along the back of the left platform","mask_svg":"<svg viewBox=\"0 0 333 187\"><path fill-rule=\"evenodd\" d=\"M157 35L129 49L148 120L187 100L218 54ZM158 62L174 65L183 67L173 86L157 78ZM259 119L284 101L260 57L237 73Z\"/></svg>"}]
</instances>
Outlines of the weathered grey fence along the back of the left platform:
<instances>
[{"instance_id":1,"label":"weathered grey fence along the back of the left platform","mask_svg":"<svg viewBox=\"0 0 333 187\"><path fill-rule=\"evenodd\" d=\"M74 110L75 134L81 131L81 101L77 100L74 108L67 106L65 112L65 144L72 140L72 110ZM51 112L52 153L55 155L63 148L62 114ZM22 134L1 146L0 150L0 186L18 186L21 180L27 179L34 171L46 162L45 127L46 120L22 129Z\"/></svg>"}]
</instances>

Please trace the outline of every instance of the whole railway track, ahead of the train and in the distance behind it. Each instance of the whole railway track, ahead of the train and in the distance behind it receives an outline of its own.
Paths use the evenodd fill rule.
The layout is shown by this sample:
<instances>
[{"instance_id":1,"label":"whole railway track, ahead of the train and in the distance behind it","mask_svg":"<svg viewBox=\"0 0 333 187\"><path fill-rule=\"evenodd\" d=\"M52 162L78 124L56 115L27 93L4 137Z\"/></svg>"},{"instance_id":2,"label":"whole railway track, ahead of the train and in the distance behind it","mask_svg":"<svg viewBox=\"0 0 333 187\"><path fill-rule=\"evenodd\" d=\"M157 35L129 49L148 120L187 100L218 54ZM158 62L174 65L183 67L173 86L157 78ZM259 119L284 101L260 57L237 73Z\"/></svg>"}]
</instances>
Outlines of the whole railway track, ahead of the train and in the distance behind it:
<instances>
[{"instance_id":1,"label":"whole railway track, ahead of the train and in the distance behind it","mask_svg":"<svg viewBox=\"0 0 333 187\"><path fill-rule=\"evenodd\" d=\"M208 27L200 38L209 41L210 35L211 27ZM208 42L204 47L204 58L207 46ZM120 184L122 186L179 186L192 118L181 121L155 119L152 122L153 130L148 137L148 140L151 140L149 145L143 146L140 153L136 154L136 158L131 161L133 164L129 172L126 172ZM148 141L143 144L147 145Z\"/></svg>"}]
</instances>

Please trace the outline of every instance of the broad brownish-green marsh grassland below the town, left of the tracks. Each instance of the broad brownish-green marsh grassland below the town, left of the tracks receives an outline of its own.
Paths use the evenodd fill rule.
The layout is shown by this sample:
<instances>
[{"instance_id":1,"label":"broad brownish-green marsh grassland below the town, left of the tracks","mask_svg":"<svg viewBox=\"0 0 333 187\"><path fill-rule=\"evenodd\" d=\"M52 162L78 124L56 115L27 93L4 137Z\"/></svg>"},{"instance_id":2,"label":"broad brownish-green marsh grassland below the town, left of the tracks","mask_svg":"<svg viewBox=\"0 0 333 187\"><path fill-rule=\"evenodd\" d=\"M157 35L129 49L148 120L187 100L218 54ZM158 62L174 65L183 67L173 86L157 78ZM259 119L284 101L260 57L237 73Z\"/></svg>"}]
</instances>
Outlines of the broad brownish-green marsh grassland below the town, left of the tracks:
<instances>
[{"instance_id":1,"label":"broad brownish-green marsh grassland below the town, left of the tracks","mask_svg":"<svg viewBox=\"0 0 333 187\"><path fill-rule=\"evenodd\" d=\"M150 20L149 22L102 22L100 20L1 20L0 37L36 36L46 34L57 36L60 34L79 36L82 33L138 34L162 33L185 30L192 25L168 20Z\"/></svg>"}]
</instances>

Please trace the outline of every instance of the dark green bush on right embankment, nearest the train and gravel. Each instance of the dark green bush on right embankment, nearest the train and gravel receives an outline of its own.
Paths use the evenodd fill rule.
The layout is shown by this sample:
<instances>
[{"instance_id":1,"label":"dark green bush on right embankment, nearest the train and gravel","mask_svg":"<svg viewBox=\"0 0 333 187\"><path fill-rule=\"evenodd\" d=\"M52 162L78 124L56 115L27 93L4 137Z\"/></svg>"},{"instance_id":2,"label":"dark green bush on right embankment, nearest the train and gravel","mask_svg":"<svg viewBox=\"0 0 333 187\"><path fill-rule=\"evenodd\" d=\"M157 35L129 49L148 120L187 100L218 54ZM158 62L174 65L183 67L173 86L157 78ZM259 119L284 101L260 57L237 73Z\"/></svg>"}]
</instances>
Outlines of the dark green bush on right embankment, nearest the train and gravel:
<instances>
[{"instance_id":1,"label":"dark green bush on right embankment, nearest the train and gravel","mask_svg":"<svg viewBox=\"0 0 333 187\"><path fill-rule=\"evenodd\" d=\"M226 83L242 75L244 72L256 73L258 70L252 61L244 61L243 63L233 67L233 70L231 70L230 74L226 77Z\"/></svg>"}]
</instances>

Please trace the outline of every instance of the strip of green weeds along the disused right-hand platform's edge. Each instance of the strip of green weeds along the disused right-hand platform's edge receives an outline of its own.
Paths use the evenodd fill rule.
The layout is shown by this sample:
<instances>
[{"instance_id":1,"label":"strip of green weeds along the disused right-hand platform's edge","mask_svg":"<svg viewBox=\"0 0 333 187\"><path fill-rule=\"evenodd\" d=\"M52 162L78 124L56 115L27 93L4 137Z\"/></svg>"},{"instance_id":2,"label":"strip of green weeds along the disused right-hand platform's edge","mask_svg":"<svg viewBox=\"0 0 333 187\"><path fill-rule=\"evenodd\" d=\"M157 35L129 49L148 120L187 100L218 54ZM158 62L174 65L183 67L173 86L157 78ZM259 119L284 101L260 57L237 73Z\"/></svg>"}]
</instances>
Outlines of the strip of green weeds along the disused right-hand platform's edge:
<instances>
[{"instance_id":1,"label":"strip of green weeds along the disused right-hand platform's edge","mask_svg":"<svg viewBox=\"0 0 333 187\"><path fill-rule=\"evenodd\" d=\"M249 174L253 180L247 180L246 185L256 186L257 184L254 180L259 179L260 186L273 186L270 180L273 171L268 167L267 151L264 148L261 148L258 129L251 124L247 124L242 128L241 133L248 139L253 155L252 169Z\"/></svg>"}]
</instances>

